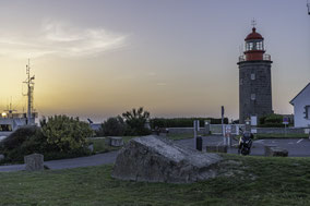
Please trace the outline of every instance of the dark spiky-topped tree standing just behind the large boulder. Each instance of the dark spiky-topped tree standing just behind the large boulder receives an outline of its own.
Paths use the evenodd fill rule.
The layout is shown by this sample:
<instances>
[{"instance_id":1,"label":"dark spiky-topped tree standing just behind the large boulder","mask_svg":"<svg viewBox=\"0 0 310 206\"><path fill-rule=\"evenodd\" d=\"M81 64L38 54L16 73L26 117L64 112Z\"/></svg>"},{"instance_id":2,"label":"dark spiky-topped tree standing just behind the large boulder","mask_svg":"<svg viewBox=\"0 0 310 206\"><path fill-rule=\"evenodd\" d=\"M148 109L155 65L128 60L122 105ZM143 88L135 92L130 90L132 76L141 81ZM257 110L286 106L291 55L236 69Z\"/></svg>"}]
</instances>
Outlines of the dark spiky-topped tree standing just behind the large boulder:
<instances>
[{"instance_id":1,"label":"dark spiky-topped tree standing just behind the large boulder","mask_svg":"<svg viewBox=\"0 0 310 206\"><path fill-rule=\"evenodd\" d=\"M122 117L126 119L128 124L128 134L130 135L147 135L151 131L145 128L146 122L150 119L150 112L144 111L143 107L139 109L132 109L122 113Z\"/></svg>"}]
</instances>

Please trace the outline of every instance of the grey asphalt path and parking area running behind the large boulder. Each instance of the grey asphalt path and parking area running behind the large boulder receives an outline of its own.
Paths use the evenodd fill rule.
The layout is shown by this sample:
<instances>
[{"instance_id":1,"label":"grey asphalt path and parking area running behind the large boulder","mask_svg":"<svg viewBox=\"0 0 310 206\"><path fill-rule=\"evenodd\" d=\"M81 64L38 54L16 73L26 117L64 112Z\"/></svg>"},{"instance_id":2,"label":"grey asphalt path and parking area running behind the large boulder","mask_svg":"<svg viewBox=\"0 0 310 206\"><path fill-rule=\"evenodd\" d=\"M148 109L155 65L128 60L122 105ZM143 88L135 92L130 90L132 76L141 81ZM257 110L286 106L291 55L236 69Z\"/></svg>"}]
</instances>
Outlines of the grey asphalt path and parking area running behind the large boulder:
<instances>
[{"instance_id":1,"label":"grey asphalt path and parking area running behind the large boulder","mask_svg":"<svg viewBox=\"0 0 310 206\"><path fill-rule=\"evenodd\" d=\"M181 145L194 147L193 138L187 138L177 141ZM220 145L223 144L223 137L220 136L207 136L203 137L203 148L206 145ZM233 145L238 144L237 141L233 141ZM282 140L260 140L254 141L253 147L251 149L251 155L262 156L264 155L264 145L277 145L279 147L286 148L288 150L288 156L290 157L310 157L310 141L308 138L282 138ZM52 170L59 169L70 169L78 167L88 167L88 166L99 166L106 163L114 163L118 152L110 152L105 154L98 154L87 157L79 157L73 159L61 159L45 161L45 165ZM237 148L229 148L228 153L237 154ZM11 165L11 166L0 166L0 172L5 171L20 171L24 170L24 165Z\"/></svg>"}]
</instances>

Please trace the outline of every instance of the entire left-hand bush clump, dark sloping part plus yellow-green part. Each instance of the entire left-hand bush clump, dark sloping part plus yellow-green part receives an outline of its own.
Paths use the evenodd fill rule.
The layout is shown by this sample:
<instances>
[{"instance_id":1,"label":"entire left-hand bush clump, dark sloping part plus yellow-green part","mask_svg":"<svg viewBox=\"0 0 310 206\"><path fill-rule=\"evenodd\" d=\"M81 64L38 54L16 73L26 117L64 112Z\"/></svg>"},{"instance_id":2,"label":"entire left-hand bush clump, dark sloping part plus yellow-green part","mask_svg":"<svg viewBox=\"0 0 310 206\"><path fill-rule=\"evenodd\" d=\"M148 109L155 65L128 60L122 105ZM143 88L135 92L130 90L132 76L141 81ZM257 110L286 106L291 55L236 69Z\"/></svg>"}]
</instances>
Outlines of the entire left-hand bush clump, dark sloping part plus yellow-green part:
<instances>
[{"instance_id":1,"label":"entire left-hand bush clump, dark sloping part plus yellow-green part","mask_svg":"<svg viewBox=\"0 0 310 206\"><path fill-rule=\"evenodd\" d=\"M25 126L14 131L0 144L5 162L23 161L24 156L39 153L45 160L90 155L86 137L93 134L90 125L65 116L41 121L43 128Z\"/></svg>"}]
</instances>

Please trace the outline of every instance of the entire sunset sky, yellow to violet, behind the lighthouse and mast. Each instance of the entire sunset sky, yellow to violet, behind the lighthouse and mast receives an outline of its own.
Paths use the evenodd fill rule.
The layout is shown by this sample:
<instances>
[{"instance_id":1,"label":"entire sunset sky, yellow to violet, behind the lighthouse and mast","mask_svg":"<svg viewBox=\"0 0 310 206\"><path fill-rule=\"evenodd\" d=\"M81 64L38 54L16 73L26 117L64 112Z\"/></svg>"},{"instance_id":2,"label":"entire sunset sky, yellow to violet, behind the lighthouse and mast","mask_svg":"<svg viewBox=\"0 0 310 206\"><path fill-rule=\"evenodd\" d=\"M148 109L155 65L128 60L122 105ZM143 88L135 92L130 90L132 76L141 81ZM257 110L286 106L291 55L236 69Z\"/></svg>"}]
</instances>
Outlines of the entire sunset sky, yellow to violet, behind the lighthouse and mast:
<instances>
[{"instance_id":1,"label":"entire sunset sky, yellow to violet, behind the lighthouse and mast","mask_svg":"<svg viewBox=\"0 0 310 206\"><path fill-rule=\"evenodd\" d=\"M0 109L26 110L25 70L40 116L102 122L152 117L238 119L238 57L251 21L271 54L273 109L310 78L306 0L1 0Z\"/></svg>"}]
</instances>

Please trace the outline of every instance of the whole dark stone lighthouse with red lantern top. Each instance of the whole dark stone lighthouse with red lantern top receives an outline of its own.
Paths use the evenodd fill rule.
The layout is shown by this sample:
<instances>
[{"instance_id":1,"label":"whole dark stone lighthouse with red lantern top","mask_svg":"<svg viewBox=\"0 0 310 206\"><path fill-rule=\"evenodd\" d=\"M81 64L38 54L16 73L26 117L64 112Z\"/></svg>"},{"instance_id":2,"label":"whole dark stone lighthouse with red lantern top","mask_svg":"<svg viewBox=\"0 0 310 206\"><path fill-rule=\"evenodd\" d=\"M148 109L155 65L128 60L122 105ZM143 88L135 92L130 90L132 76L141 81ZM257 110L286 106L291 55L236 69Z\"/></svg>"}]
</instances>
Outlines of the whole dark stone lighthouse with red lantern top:
<instances>
[{"instance_id":1,"label":"whole dark stone lighthouse with red lantern top","mask_svg":"<svg viewBox=\"0 0 310 206\"><path fill-rule=\"evenodd\" d=\"M271 56L265 53L264 38L252 28L247 36L245 54L239 57L239 122L251 116L258 121L262 116L273 113Z\"/></svg>"}]
</instances>

